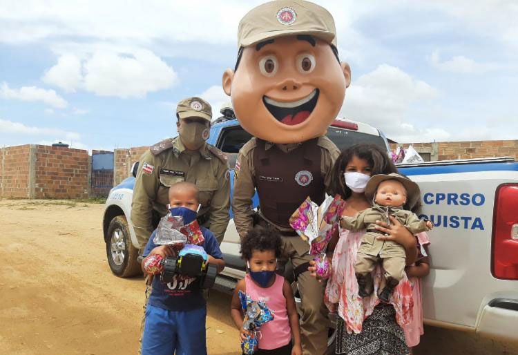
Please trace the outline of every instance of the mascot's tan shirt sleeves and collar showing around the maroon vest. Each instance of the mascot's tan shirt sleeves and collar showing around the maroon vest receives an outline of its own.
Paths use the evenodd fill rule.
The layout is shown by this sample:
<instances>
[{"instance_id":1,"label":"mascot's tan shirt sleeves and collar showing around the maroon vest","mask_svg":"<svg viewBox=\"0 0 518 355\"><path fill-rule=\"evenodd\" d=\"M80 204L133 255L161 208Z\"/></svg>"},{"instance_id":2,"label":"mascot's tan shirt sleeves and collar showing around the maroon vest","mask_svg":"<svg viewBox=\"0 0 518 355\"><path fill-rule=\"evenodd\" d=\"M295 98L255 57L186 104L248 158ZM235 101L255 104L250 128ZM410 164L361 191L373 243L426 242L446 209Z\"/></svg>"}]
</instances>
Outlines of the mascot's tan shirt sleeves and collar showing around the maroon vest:
<instances>
[{"instance_id":1,"label":"mascot's tan shirt sleeves and collar showing around the maroon vest","mask_svg":"<svg viewBox=\"0 0 518 355\"><path fill-rule=\"evenodd\" d=\"M275 144L267 142L265 149L268 150L274 145L278 146L278 148L285 153L293 151L300 146L299 143ZM322 173L325 189L327 190L331 182L331 168L336 158L338 158L338 155L340 155L340 151L325 135L318 137L317 145L320 147L321 153L320 173ZM252 227L252 198L256 192L256 171L253 162L253 150L256 146L257 141L255 137L249 140L247 144L244 144L239 151L236 169L234 170L232 212L240 238L243 238ZM279 169L282 169L282 166L279 166ZM302 202L303 201L300 201L300 203ZM282 231L282 228L278 228Z\"/></svg>"}]
</instances>

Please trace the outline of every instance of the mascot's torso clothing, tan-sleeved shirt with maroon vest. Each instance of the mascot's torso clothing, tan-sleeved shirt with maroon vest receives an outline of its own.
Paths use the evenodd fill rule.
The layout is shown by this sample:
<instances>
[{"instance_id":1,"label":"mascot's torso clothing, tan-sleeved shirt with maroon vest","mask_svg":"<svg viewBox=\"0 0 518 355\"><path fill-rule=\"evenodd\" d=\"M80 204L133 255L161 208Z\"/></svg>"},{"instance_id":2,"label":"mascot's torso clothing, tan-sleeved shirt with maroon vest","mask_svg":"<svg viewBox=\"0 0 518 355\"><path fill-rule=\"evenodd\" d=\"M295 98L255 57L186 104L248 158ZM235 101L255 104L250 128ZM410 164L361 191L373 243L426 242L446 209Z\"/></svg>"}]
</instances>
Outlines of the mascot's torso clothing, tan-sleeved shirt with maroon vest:
<instances>
[{"instance_id":1,"label":"mascot's torso clothing, tan-sleeved shirt with maroon vest","mask_svg":"<svg viewBox=\"0 0 518 355\"><path fill-rule=\"evenodd\" d=\"M307 196L318 204L323 202L338 155L340 151L325 135L293 144L274 144L254 137L244 144L234 170L232 198L239 236L244 237L252 227L251 198L256 187L261 217L281 233L292 233L289 217Z\"/></svg>"}]
</instances>

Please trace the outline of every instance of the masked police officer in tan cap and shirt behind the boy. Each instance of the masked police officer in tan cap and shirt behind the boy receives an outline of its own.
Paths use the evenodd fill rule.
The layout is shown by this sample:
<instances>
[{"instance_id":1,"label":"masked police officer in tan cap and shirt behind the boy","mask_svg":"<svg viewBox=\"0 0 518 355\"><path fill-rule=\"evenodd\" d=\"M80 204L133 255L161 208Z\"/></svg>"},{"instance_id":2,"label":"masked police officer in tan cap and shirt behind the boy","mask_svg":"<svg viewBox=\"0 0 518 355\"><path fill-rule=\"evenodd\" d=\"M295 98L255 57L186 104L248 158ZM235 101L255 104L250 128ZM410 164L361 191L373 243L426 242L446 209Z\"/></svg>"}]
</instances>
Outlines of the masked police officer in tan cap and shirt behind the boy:
<instances>
[{"instance_id":1,"label":"masked police officer in tan cap and shirt behind the boy","mask_svg":"<svg viewBox=\"0 0 518 355\"><path fill-rule=\"evenodd\" d=\"M168 212L169 186L180 181L193 182L200 189L198 221L221 244L229 224L229 169L227 155L205 142L211 116L211 106L204 99L183 99L176 108L178 137L158 142L140 157L131 222L141 250L158 219Z\"/></svg>"}]
</instances>

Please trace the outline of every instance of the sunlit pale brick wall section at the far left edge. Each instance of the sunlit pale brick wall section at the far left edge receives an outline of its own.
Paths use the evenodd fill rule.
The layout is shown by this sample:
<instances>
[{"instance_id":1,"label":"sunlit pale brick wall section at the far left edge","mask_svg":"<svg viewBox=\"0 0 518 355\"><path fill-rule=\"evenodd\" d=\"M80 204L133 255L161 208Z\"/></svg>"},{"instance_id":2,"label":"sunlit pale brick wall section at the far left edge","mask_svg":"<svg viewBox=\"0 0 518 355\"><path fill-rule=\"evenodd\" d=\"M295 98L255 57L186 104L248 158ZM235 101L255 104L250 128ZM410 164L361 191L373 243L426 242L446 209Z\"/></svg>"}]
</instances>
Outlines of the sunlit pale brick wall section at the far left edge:
<instances>
[{"instance_id":1,"label":"sunlit pale brick wall section at the far left edge","mask_svg":"<svg viewBox=\"0 0 518 355\"><path fill-rule=\"evenodd\" d=\"M28 198L30 144L0 148L0 196Z\"/></svg>"}]
</instances>

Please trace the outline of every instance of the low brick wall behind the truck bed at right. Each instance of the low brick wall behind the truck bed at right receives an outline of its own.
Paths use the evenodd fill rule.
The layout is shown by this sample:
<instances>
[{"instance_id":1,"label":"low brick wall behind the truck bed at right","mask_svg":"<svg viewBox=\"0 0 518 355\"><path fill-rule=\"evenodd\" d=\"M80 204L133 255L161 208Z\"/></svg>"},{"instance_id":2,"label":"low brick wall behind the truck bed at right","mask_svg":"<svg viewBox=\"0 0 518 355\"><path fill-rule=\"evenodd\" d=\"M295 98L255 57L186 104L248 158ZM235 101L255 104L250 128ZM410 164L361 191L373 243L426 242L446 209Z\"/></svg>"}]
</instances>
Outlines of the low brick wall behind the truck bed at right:
<instances>
[{"instance_id":1,"label":"low brick wall behind the truck bed at right","mask_svg":"<svg viewBox=\"0 0 518 355\"><path fill-rule=\"evenodd\" d=\"M410 144L390 144L408 148ZM518 161L518 140L488 140L471 142L412 143L418 153L430 153L431 160L455 160L477 157L514 157Z\"/></svg>"}]
</instances>

